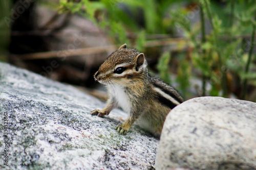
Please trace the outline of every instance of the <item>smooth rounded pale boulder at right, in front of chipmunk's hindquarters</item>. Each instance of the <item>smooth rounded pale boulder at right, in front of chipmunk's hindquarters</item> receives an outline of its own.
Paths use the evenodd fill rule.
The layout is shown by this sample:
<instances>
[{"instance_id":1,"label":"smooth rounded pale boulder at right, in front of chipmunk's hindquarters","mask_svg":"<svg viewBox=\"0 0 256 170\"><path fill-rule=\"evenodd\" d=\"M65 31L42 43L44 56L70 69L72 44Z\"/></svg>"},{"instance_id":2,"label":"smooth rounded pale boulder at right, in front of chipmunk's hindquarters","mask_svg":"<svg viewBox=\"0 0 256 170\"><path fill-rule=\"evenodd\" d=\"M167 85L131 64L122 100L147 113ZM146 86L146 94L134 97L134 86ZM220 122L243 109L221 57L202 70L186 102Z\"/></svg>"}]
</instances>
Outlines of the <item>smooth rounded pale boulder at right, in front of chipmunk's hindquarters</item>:
<instances>
[{"instance_id":1,"label":"smooth rounded pale boulder at right, in front of chipmunk's hindquarters","mask_svg":"<svg viewBox=\"0 0 256 170\"><path fill-rule=\"evenodd\" d=\"M256 104L202 97L166 117L156 169L256 169Z\"/></svg>"}]
</instances>

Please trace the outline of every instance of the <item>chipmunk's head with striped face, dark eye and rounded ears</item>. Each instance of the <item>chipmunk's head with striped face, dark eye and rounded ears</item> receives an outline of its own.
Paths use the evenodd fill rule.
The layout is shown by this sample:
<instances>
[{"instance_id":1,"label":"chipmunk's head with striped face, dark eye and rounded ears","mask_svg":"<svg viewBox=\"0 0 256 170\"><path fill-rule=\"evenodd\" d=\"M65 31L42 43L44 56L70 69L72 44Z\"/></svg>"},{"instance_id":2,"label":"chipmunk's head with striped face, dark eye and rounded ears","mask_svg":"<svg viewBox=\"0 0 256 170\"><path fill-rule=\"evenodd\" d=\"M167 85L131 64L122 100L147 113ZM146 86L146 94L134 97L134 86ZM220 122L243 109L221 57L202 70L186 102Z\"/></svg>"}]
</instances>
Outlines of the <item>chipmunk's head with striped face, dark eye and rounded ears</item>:
<instances>
[{"instance_id":1,"label":"chipmunk's head with striped face, dark eye and rounded ears","mask_svg":"<svg viewBox=\"0 0 256 170\"><path fill-rule=\"evenodd\" d=\"M103 84L117 83L127 85L140 79L147 71L147 62L144 54L132 48L126 48L126 44L112 53L95 73L94 79Z\"/></svg>"}]
</instances>

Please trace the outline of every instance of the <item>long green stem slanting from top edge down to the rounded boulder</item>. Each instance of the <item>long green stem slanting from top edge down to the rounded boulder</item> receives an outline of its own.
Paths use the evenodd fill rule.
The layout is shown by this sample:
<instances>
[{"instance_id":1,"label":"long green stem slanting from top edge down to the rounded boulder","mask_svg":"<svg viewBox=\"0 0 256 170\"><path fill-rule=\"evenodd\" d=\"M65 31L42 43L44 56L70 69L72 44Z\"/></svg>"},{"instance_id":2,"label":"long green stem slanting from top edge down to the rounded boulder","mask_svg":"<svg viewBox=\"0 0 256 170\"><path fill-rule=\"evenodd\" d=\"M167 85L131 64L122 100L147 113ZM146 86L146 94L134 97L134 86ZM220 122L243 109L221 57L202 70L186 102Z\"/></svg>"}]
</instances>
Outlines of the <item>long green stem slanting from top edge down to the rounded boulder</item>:
<instances>
[{"instance_id":1,"label":"long green stem slanting from top edge down to the rounded boulder","mask_svg":"<svg viewBox=\"0 0 256 170\"><path fill-rule=\"evenodd\" d=\"M216 46L217 46L216 51L217 51L218 58L219 58L219 69L221 71L221 85L222 85L222 90L223 90L223 96L226 97L228 95L227 75L226 75L226 70L223 69L223 63L222 63L223 61L222 61L222 56L221 56L221 52L220 52L220 48L219 48L220 45L219 45L218 35L217 35L215 25L213 23L213 19L212 19L212 15L211 15L211 11L210 11L208 1L204 0L204 3L205 3L207 15L209 17L209 21L211 23L212 30L214 31L214 41L215 41Z\"/></svg>"}]
</instances>

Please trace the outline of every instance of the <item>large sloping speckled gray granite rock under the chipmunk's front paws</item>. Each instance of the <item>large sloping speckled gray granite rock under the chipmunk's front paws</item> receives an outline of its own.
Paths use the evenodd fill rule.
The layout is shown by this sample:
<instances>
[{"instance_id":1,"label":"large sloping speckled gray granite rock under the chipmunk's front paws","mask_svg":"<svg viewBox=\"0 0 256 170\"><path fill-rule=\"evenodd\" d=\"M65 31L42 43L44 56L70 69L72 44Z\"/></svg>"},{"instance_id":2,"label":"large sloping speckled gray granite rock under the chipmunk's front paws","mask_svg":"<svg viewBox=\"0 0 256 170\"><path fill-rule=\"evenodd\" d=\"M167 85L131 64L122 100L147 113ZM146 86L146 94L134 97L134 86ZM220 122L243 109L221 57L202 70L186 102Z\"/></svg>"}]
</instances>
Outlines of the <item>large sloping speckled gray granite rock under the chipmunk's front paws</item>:
<instances>
[{"instance_id":1,"label":"large sloping speckled gray granite rock under the chipmunk's front paws","mask_svg":"<svg viewBox=\"0 0 256 170\"><path fill-rule=\"evenodd\" d=\"M158 140L136 126L119 135L121 110L91 116L104 103L72 86L1 62L0 73L0 169L154 167Z\"/></svg>"}]
</instances>

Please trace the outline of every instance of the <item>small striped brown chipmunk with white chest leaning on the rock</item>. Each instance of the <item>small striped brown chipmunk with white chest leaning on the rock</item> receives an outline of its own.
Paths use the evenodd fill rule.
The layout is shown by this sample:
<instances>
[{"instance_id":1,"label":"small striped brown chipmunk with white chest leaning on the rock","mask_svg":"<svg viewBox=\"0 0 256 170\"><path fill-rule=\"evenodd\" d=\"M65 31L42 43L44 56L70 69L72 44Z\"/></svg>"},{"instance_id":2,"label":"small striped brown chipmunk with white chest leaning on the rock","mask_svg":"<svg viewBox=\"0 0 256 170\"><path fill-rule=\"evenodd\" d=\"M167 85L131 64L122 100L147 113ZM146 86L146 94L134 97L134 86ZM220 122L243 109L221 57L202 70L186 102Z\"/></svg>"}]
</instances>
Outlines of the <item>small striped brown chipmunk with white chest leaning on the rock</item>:
<instances>
[{"instance_id":1,"label":"small striped brown chipmunk with white chest leaning on the rock","mask_svg":"<svg viewBox=\"0 0 256 170\"><path fill-rule=\"evenodd\" d=\"M137 120L142 129L160 137L166 115L183 99L173 87L148 73L143 53L126 46L106 58L95 73L95 81L106 85L110 98L105 108L91 114L103 117L119 106L129 113L116 127L119 134L125 135Z\"/></svg>"}]
</instances>

